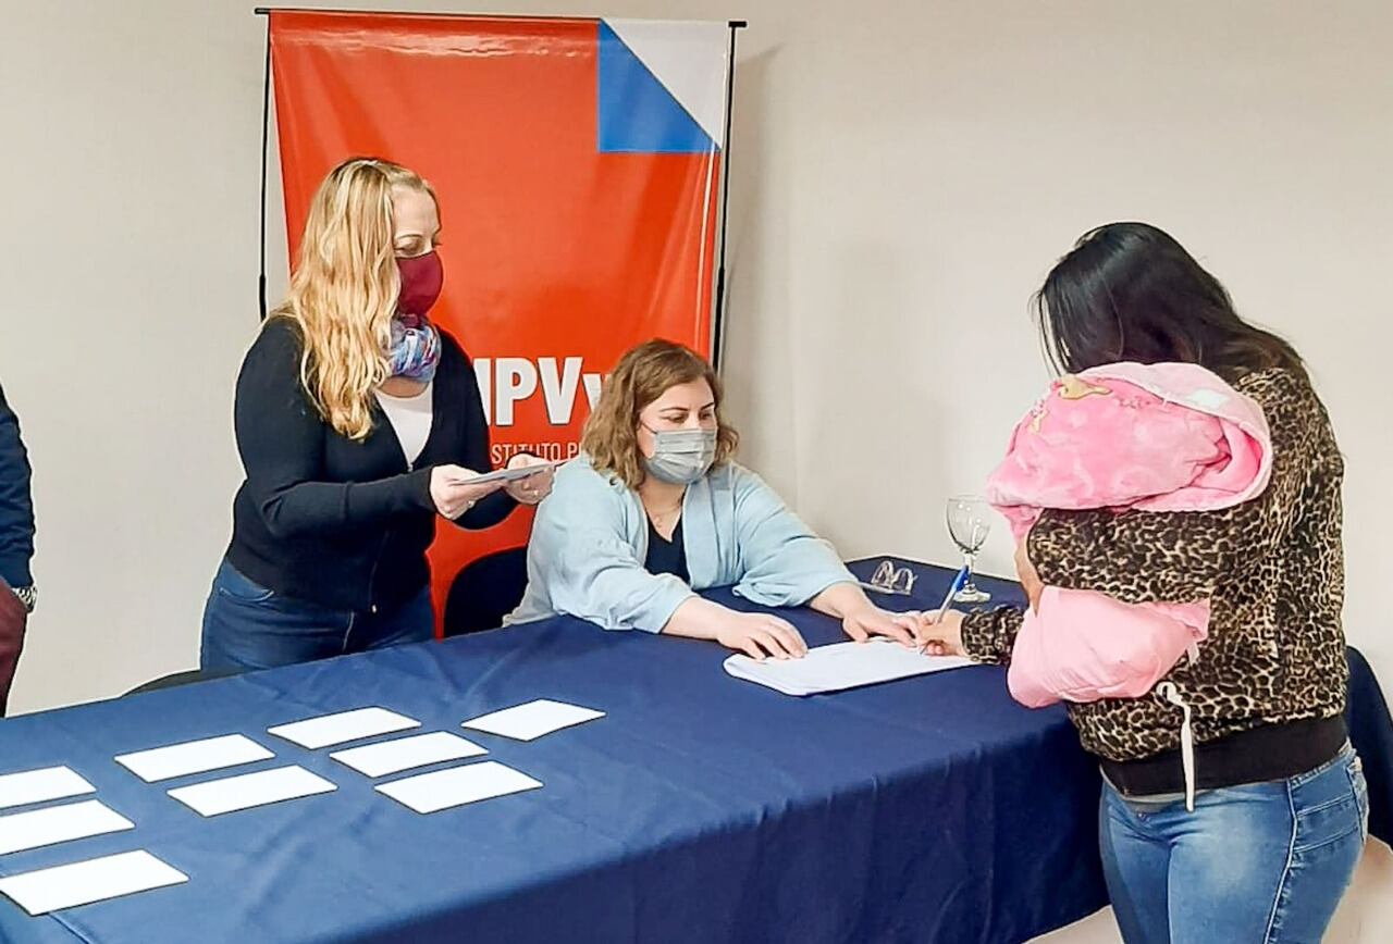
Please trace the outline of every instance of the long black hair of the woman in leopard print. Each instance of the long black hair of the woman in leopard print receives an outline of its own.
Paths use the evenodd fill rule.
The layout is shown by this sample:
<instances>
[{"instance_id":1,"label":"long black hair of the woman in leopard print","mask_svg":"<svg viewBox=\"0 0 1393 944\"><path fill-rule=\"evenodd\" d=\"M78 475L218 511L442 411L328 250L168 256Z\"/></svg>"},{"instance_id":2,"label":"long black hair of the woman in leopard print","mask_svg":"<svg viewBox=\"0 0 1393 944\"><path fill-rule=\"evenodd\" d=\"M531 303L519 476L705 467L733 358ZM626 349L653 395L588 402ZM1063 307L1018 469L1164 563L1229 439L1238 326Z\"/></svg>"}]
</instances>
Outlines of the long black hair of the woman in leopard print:
<instances>
[{"instance_id":1,"label":"long black hair of the woman in leopard print","mask_svg":"<svg viewBox=\"0 0 1393 944\"><path fill-rule=\"evenodd\" d=\"M1146 223L1085 233L1034 306L1045 349L1066 373L1117 361L1185 361L1230 380L1268 368L1304 372L1295 348L1238 317L1219 280Z\"/></svg>"}]
</instances>

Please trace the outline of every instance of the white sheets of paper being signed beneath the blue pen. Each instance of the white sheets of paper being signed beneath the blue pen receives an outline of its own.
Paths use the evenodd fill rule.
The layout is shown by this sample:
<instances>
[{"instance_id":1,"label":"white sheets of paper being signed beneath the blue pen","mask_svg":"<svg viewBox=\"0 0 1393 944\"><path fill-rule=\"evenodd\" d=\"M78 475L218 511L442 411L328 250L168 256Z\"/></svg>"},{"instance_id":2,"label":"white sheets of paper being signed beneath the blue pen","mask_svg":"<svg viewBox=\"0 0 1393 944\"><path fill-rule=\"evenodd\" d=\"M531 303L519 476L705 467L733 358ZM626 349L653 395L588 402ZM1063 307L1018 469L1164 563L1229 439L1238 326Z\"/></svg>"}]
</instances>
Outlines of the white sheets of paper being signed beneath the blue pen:
<instances>
[{"instance_id":1,"label":"white sheets of paper being signed beneath the blue pen","mask_svg":"<svg viewBox=\"0 0 1393 944\"><path fill-rule=\"evenodd\" d=\"M726 660L726 671L784 695L816 695L975 664L963 656L925 656L889 639L872 639L818 646L802 659L756 661L736 654Z\"/></svg>"}]
</instances>

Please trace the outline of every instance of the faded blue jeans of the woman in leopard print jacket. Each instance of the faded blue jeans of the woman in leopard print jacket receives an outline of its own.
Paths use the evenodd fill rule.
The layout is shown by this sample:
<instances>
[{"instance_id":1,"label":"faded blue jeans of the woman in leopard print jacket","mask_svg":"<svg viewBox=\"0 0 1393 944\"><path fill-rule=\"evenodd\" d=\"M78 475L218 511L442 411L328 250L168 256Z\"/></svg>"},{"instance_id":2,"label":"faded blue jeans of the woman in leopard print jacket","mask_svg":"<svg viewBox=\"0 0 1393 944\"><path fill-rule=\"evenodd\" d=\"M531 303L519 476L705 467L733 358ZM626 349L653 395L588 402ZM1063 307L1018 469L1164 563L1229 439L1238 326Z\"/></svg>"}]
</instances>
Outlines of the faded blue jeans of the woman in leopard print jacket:
<instances>
[{"instance_id":1,"label":"faded blue jeans of the woman in leopard print jacket","mask_svg":"<svg viewBox=\"0 0 1393 944\"><path fill-rule=\"evenodd\" d=\"M1354 749L1287 780L1166 805L1103 782L1099 841L1127 944L1318 944L1364 849Z\"/></svg>"}]
</instances>

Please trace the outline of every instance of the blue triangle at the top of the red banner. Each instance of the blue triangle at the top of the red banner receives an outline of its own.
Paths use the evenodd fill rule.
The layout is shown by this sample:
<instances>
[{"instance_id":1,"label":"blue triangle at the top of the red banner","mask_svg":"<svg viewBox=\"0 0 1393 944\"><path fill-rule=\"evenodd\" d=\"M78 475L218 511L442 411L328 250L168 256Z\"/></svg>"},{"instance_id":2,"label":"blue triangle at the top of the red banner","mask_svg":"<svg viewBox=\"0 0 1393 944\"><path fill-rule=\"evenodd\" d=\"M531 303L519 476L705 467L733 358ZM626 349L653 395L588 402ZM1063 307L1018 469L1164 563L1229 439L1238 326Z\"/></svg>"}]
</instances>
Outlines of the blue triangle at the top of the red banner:
<instances>
[{"instance_id":1,"label":"blue triangle at the top of the red banner","mask_svg":"<svg viewBox=\"0 0 1393 944\"><path fill-rule=\"evenodd\" d=\"M710 153L716 143L603 21L596 63L600 152Z\"/></svg>"}]
</instances>

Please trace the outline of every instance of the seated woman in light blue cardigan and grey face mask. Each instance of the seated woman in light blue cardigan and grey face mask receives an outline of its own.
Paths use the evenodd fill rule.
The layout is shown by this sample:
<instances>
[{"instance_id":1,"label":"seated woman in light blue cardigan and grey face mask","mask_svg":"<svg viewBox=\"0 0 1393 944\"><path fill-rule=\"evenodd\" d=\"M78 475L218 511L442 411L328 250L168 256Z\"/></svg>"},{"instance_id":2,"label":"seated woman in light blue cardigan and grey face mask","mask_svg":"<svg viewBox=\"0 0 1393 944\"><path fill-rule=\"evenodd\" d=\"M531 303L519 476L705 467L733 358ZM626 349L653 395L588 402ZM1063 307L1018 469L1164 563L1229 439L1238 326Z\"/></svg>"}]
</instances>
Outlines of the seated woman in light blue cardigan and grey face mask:
<instances>
[{"instance_id":1,"label":"seated woman in light blue cardigan and grey face mask","mask_svg":"<svg viewBox=\"0 0 1393 944\"><path fill-rule=\"evenodd\" d=\"M715 639L755 659L807 652L786 620L695 593L734 586L762 606L808 604L857 640L914 645L915 618L873 606L832 546L730 461L736 441L701 355L669 341L628 351L585 425L582 455L538 510L527 595L508 622L566 613L606 629Z\"/></svg>"}]
</instances>

